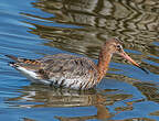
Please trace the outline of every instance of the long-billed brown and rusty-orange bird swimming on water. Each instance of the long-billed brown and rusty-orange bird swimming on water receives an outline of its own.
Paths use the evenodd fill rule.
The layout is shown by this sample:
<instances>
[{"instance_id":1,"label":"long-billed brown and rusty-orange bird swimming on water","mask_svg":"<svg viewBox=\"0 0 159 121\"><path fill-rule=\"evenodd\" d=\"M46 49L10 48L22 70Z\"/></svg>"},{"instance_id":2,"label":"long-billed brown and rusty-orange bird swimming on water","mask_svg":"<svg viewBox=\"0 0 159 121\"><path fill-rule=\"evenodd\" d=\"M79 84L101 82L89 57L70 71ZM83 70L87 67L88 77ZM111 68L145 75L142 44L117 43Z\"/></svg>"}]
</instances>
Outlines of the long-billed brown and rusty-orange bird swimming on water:
<instances>
[{"instance_id":1,"label":"long-billed brown and rusty-orange bird swimming on water","mask_svg":"<svg viewBox=\"0 0 159 121\"><path fill-rule=\"evenodd\" d=\"M33 84L87 90L100 82L108 70L112 56L115 54L148 73L126 54L121 41L116 37L106 40L100 48L97 64L88 57L71 54L54 54L38 59L28 59L13 55L6 56L14 61L9 62L9 65L19 70Z\"/></svg>"}]
</instances>

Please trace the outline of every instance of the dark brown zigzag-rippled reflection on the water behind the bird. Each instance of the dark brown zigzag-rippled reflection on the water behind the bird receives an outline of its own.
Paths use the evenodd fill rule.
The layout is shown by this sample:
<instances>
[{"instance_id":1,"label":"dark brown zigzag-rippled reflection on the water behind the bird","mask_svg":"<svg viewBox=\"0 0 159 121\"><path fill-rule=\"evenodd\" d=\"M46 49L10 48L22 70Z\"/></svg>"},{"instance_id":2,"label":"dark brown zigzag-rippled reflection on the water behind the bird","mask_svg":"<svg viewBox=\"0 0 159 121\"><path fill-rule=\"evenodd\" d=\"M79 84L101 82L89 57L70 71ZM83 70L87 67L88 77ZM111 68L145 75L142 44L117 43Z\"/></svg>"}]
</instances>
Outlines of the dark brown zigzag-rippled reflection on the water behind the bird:
<instances>
[{"instance_id":1,"label":"dark brown zigzag-rippled reflection on the water behind the bird","mask_svg":"<svg viewBox=\"0 0 159 121\"><path fill-rule=\"evenodd\" d=\"M146 58L158 63L158 59L146 56L158 56L158 46L152 43L159 37L157 2L152 0L39 0L32 4L54 14L55 18L22 14L29 18L26 21L29 24L35 26L30 29L30 32L45 38L44 44L47 46L97 58L105 38L118 36L135 59L141 62ZM54 23L61 23L61 26ZM77 26L66 28L65 25ZM115 62L120 61L115 59ZM149 65L146 61L142 65L158 74L156 65Z\"/></svg>"}]
</instances>

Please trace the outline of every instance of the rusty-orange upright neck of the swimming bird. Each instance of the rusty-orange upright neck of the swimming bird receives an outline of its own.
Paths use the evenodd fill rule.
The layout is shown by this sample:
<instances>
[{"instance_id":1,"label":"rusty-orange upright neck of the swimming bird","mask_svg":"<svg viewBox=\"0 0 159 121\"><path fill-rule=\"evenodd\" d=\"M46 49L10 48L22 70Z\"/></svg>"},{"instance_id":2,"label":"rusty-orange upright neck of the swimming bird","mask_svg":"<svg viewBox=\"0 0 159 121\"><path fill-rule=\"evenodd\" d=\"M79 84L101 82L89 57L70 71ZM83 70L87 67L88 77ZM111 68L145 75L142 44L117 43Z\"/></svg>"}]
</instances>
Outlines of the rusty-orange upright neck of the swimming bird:
<instances>
[{"instance_id":1,"label":"rusty-orange upright neck of the swimming bird","mask_svg":"<svg viewBox=\"0 0 159 121\"><path fill-rule=\"evenodd\" d=\"M97 64L97 69L98 69L98 81L105 76L110 59L112 59L112 53L109 50L102 48L99 56L98 56L98 64Z\"/></svg>"}]
</instances>

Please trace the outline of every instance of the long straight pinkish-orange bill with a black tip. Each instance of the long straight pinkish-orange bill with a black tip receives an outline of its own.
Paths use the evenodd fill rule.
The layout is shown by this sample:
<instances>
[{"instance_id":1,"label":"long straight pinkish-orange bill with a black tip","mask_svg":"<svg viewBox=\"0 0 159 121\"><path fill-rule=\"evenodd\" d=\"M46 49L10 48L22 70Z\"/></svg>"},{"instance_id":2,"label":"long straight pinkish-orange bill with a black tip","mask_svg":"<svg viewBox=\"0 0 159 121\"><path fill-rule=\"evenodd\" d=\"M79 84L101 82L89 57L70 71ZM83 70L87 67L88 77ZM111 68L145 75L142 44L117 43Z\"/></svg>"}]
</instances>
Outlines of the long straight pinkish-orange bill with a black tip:
<instances>
[{"instance_id":1,"label":"long straight pinkish-orange bill with a black tip","mask_svg":"<svg viewBox=\"0 0 159 121\"><path fill-rule=\"evenodd\" d=\"M130 62L132 65L137 66L138 68L140 68L141 70L144 70L146 74L149 74L148 70L146 70L144 67L141 67L140 65L138 65L132 58L130 58L130 56L128 56L124 51L119 53L119 55L121 57L124 57L125 59L127 59L128 62Z\"/></svg>"}]
</instances>

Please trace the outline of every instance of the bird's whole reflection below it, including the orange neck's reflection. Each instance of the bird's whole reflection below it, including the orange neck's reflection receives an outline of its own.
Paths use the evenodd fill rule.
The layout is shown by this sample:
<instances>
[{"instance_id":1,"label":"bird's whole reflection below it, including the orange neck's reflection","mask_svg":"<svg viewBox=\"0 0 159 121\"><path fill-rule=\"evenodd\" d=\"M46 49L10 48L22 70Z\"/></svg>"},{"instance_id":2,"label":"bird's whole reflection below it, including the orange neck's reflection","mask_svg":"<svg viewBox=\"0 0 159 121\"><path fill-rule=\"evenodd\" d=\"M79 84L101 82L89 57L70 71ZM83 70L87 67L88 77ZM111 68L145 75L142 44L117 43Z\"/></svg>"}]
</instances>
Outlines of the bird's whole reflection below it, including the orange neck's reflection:
<instances>
[{"instance_id":1,"label":"bird's whole reflection below it, including the orange neck's reflection","mask_svg":"<svg viewBox=\"0 0 159 121\"><path fill-rule=\"evenodd\" d=\"M118 90L106 89L102 91L87 90L87 91L75 91L66 89L53 89L40 85L31 85L23 87L20 97L9 98L6 100L12 107L23 108L42 108L42 107L89 107L94 106L97 109L97 113L94 116L86 117L60 117L55 116L55 119L60 121L84 121L88 119L109 119L115 114L118 114L126 110L131 110L131 105L125 107L117 107L115 113L109 111L107 106L113 106L115 102L123 101L132 98L131 95L125 95L118 92ZM28 121L24 118L24 121Z\"/></svg>"}]
</instances>

